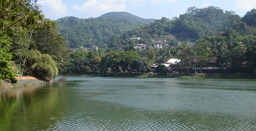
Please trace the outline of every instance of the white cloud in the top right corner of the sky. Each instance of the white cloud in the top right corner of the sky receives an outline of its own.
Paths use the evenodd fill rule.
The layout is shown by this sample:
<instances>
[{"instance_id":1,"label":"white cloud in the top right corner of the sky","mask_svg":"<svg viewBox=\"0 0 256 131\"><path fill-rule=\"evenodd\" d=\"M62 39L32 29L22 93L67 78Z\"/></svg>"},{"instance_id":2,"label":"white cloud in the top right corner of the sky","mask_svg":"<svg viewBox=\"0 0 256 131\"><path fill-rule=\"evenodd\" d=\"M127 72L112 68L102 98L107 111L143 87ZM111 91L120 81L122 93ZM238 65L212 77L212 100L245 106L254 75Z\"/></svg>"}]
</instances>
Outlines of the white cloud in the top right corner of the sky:
<instances>
[{"instance_id":1,"label":"white cloud in the top right corner of the sky","mask_svg":"<svg viewBox=\"0 0 256 131\"><path fill-rule=\"evenodd\" d=\"M236 6L240 9L251 10L256 7L255 0L236 0Z\"/></svg>"}]
</instances>

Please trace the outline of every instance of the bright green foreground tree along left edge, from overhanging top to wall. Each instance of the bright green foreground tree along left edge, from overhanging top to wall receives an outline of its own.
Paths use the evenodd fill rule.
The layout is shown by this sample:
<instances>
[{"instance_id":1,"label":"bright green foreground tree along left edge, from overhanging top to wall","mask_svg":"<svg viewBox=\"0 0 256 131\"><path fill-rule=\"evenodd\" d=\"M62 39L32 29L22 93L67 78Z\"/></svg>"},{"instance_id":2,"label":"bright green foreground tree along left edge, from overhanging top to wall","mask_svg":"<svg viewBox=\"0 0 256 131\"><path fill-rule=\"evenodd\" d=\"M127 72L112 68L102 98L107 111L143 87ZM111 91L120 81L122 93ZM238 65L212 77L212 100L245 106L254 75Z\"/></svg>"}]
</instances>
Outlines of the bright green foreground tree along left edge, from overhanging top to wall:
<instances>
[{"instance_id":1,"label":"bright green foreground tree along left edge, from overhanging top to wall","mask_svg":"<svg viewBox=\"0 0 256 131\"><path fill-rule=\"evenodd\" d=\"M10 37L16 36L22 29L40 28L45 22L36 0L9 0L0 3L0 78L8 78L17 82L15 74L9 67L12 55L7 53Z\"/></svg>"}]
</instances>

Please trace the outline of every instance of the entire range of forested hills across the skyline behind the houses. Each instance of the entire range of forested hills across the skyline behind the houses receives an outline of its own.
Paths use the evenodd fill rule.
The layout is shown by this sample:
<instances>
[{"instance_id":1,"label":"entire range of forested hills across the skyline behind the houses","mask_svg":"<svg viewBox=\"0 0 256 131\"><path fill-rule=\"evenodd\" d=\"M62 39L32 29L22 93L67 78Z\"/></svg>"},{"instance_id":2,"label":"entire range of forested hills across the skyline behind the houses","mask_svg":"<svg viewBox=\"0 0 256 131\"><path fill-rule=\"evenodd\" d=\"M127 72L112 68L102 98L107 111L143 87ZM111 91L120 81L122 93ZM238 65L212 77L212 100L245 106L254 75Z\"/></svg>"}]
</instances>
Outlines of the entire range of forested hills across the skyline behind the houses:
<instances>
[{"instance_id":1,"label":"entire range of forested hills across the skyline behind the houses","mask_svg":"<svg viewBox=\"0 0 256 131\"><path fill-rule=\"evenodd\" d=\"M80 47L81 45L103 47L106 43L106 45L113 45L108 47L120 49L122 45L130 44L129 38L131 37L141 37L140 42L152 43L150 42L151 38L175 35L178 40L185 42L220 34L235 38L237 35L255 33L255 9L241 17L234 11L223 11L214 6L202 9L189 7L187 12L180 15L179 18L163 17L150 24L131 21L132 17L129 17L129 20L128 17L122 19L122 16L127 13L119 13L123 15L112 16L112 14L116 14L112 12L89 19L64 17L56 22L58 31L66 36L66 40L70 41L70 47ZM116 45L117 43L119 46Z\"/></svg>"}]
</instances>

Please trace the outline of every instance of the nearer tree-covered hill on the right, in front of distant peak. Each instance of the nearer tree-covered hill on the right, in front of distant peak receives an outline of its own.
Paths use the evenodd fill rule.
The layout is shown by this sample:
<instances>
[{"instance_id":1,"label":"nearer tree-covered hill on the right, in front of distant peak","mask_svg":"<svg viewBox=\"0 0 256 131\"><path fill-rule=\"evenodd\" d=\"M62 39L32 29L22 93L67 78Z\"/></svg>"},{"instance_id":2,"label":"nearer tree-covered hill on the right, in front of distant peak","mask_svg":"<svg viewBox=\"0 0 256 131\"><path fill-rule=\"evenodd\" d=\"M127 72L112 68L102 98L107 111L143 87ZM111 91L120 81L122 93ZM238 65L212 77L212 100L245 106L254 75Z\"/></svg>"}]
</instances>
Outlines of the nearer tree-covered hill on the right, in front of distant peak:
<instances>
[{"instance_id":1,"label":"nearer tree-covered hill on the right, in front of distant peak","mask_svg":"<svg viewBox=\"0 0 256 131\"><path fill-rule=\"evenodd\" d=\"M175 35L178 40L192 41L202 39L205 36L234 34L250 35L254 30L255 9L248 11L244 17L235 14L234 11L223 11L214 6L198 9L189 7L185 14L167 19L163 17L143 28L128 31L126 36L135 35L142 39L163 38L166 35ZM228 33L229 32L229 33ZM231 32L231 33L230 33ZM229 35L229 36L228 36Z\"/></svg>"}]
</instances>

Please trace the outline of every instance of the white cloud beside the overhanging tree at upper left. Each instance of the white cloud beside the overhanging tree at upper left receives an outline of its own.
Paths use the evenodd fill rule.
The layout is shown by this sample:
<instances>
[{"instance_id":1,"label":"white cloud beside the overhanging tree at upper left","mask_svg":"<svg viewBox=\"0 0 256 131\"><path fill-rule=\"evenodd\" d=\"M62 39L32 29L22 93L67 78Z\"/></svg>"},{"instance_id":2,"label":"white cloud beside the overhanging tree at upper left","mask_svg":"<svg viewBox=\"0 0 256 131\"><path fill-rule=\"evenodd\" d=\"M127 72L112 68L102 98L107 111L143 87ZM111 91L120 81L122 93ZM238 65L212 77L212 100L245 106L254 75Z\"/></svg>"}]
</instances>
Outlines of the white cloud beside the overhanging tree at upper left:
<instances>
[{"instance_id":1,"label":"white cloud beside the overhanging tree at upper left","mask_svg":"<svg viewBox=\"0 0 256 131\"><path fill-rule=\"evenodd\" d=\"M67 6L61 0L40 0L37 3L41 6L46 18L52 19L67 13Z\"/></svg>"}]
</instances>

